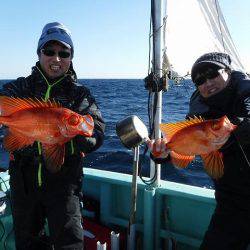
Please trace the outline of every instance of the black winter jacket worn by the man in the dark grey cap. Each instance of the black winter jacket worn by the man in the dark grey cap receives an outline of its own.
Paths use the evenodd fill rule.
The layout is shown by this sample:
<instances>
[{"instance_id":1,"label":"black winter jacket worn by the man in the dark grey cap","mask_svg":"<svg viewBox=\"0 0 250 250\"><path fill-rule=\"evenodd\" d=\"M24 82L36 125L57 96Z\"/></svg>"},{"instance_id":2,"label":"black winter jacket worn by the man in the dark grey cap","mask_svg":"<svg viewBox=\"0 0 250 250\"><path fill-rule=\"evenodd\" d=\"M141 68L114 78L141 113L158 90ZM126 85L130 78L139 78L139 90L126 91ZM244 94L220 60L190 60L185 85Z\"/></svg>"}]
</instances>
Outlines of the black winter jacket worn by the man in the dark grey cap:
<instances>
[{"instance_id":1,"label":"black winter jacket worn by the man in the dark grey cap","mask_svg":"<svg viewBox=\"0 0 250 250\"><path fill-rule=\"evenodd\" d=\"M250 211L250 79L233 71L228 86L218 94L202 98L196 90L190 99L189 117L214 119L227 115L238 125L221 148L224 175L214 180L218 206Z\"/></svg>"}]
</instances>

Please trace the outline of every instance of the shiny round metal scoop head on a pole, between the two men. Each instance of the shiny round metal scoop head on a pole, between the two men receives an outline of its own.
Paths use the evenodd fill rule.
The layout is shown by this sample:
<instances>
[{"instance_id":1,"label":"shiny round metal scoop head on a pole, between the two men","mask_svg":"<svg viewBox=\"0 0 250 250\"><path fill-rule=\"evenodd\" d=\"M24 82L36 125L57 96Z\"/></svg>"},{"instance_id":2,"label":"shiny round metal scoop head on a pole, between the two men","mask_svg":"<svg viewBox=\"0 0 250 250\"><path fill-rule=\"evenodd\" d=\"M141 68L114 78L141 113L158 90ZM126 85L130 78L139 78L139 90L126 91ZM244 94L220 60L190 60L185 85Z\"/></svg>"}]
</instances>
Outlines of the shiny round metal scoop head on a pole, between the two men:
<instances>
[{"instance_id":1,"label":"shiny round metal scoop head on a pole, between the two men","mask_svg":"<svg viewBox=\"0 0 250 250\"><path fill-rule=\"evenodd\" d=\"M122 144L131 149L148 138L148 130L139 117L132 115L116 124L116 133Z\"/></svg>"}]
</instances>

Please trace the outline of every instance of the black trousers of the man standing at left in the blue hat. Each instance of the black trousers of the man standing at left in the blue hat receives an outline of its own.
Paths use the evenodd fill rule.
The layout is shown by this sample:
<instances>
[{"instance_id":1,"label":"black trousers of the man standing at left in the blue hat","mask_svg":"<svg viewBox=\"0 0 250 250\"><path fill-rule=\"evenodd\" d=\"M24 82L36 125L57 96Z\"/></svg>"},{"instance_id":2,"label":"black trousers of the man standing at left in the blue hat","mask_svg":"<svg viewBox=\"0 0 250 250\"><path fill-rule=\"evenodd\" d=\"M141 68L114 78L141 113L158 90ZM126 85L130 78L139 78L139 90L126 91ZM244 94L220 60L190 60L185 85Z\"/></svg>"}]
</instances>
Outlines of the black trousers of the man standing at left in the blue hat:
<instances>
[{"instance_id":1,"label":"black trousers of the man standing at left in the blue hat","mask_svg":"<svg viewBox=\"0 0 250 250\"><path fill-rule=\"evenodd\" d=\"M11 204L17 250L83 249L79 194L74 185L27 192L19 170L11 171ZM49 240L44 234L47 219Z\"/></svg>"}]
</instances>

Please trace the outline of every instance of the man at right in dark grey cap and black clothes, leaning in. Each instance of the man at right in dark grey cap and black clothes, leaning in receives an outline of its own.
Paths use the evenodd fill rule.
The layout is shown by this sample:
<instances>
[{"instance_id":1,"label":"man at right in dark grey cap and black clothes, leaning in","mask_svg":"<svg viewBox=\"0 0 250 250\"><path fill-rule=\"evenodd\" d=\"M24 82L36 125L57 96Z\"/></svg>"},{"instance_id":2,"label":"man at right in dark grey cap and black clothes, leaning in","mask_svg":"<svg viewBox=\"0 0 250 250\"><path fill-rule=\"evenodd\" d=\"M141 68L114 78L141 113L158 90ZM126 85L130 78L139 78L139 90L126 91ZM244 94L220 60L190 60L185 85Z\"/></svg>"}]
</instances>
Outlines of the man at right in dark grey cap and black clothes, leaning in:
<instances>
[{"instance_id":1,"label":"man at right in dark grey cap and black clothes, leaning in","mask_svg":"<svg viewBox=\"0 0 250 250\"><path fill-rule=\"evenodd\" d=\"M216 208L200 246L201 250L245 250L250 243L250 79L232 70L225 53L199 57L191 71L196 90L188 117L216 119L224 115L237 125L220 149L224 174L214 179ZM169 160L165 139L149 141L161 153L156 162Z\"/></svg>"}]
</instances>

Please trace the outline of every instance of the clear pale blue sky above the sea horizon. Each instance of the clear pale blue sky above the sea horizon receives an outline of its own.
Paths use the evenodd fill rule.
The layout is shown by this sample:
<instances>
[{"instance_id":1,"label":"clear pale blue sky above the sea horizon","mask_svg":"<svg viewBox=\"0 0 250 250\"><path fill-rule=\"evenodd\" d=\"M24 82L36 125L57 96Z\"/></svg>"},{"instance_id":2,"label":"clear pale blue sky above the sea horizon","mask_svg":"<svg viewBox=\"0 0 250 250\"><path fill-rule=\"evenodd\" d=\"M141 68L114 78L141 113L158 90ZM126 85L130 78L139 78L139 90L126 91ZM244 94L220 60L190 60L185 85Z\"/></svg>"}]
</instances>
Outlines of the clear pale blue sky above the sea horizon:
<instances>
[{"instance_id":1,"label":"clear pale blue sky above the sea horizon","mask_svg":"<svg viewBox=\"0 0 250 250\"><path fill-rule=\"evenodd\" d=\"M185 1L185 0L184 0ZM220 0L231 36L250 71L249 0ZM43 26L64 23L75 46L79 78L144 78L150 0L1 1L0 79L30 74Z\"/></svg>"}]
</instances>

